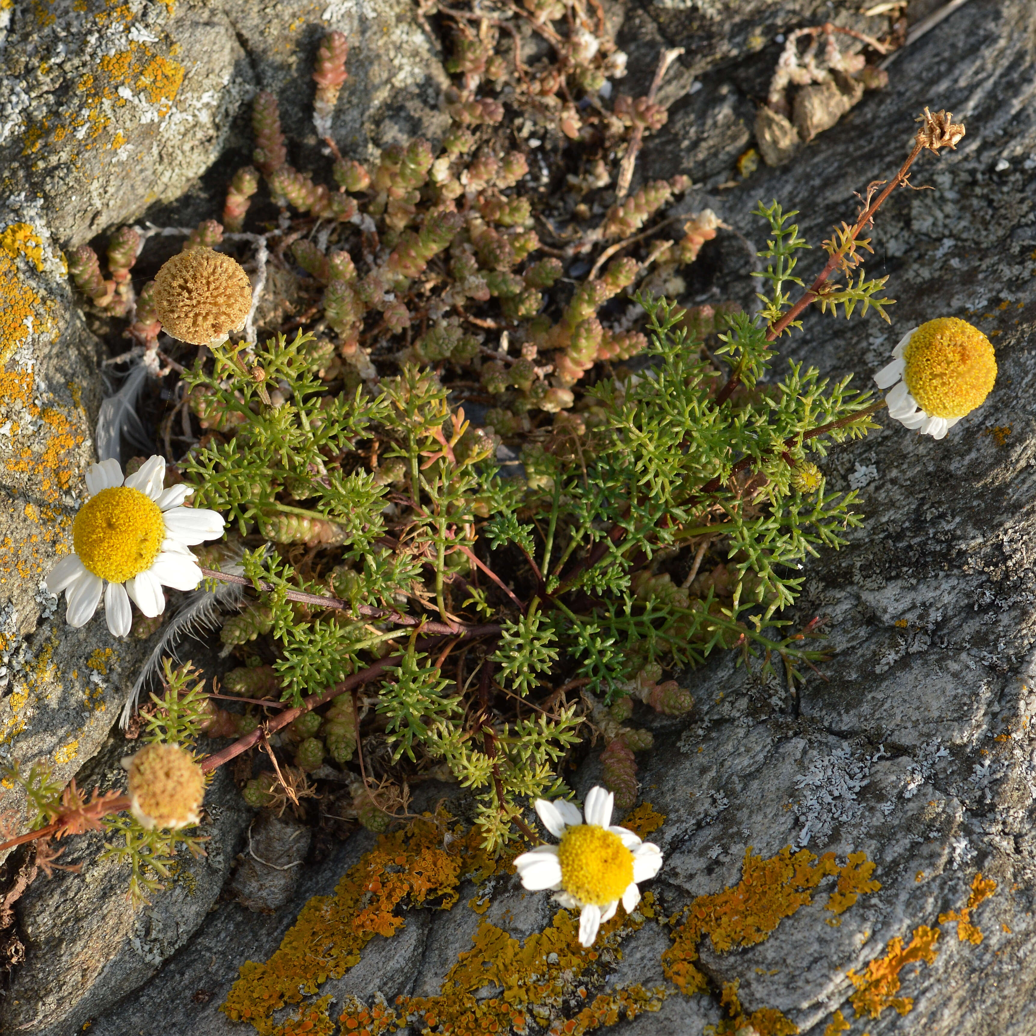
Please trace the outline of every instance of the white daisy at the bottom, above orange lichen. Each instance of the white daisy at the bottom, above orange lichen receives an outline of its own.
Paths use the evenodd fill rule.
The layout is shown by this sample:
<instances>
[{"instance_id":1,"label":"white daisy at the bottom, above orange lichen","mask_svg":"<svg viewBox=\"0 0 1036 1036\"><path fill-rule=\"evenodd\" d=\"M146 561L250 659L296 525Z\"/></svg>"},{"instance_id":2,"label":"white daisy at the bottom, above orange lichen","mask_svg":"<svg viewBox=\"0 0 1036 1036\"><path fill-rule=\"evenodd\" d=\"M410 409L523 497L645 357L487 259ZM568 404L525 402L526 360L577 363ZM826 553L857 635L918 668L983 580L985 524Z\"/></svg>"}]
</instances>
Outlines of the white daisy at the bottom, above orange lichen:
<instances>
[{"instance_id":1,"label":"white daisy at the bottom, above orange lichen","mask_svg":"<svg viewBox=\"0 0 1036 1036\"><path fill-rule=\"evenodd\" d=\"M614 799L603 787L591 788L584 814L564 799L537 799L540 819L560 843L538 845L515 860L526 889L550 889L557 893L553 898L562 906L580 909L583 946L594 945L598 928L611 920L620 900L627 914L636 906L640 901L637 882L654 877L662 866L657 845L641 841L627 828L609 826Z\"/></svg>"}]
</instances>

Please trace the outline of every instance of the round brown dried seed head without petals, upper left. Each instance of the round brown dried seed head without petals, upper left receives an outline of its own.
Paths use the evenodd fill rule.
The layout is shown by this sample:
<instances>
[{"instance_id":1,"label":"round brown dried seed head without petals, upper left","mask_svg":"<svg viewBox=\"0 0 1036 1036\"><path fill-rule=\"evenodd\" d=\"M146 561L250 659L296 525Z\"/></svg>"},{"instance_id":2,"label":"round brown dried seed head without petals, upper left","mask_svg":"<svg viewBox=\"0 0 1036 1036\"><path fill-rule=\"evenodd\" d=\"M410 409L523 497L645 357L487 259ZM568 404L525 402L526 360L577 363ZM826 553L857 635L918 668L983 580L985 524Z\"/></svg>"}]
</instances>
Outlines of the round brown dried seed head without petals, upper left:
<instances>
[{"instance_id":1,"label":"round brown dried seed head without petals, upper left","mask_svg":"<svg viewBox=\"0 0 1036 1036\"><path fill-rule=\"evenodd\" d=\"M252 282L230 256L192 249L154 278L154 309L163 329L192 345L219 345L240 330L252 308Z\"/></svg>"}]
</instances>

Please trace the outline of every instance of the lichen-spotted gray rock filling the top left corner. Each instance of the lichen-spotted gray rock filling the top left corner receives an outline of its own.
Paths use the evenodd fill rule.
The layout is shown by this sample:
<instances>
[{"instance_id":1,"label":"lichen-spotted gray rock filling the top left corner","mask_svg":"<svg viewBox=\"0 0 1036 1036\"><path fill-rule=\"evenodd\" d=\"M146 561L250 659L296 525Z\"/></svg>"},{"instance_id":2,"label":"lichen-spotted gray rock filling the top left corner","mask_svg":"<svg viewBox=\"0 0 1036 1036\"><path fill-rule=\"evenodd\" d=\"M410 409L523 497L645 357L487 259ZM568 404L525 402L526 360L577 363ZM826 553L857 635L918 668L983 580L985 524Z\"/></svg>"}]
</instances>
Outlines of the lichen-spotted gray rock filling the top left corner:
<instances>
[{"instance_id":1,"label":"lichen-spotted gray rock filling the top left corner","mask_svg":"<svg viewBox=\"0 0 1036 1036\"><path fill-rule=\"evenodd\" d=\"M0 12L0 208L41 207L65 247L133 221L179 198L228 144L251 153L247 103L257 89L282 99L294 143L315 146L310 73L328 28L350 38L336 121L346 148L367 157L391 140L435 136L445 73L407 0L130 0L53 12L19 3Z\"/></svg>"}]
</instances>

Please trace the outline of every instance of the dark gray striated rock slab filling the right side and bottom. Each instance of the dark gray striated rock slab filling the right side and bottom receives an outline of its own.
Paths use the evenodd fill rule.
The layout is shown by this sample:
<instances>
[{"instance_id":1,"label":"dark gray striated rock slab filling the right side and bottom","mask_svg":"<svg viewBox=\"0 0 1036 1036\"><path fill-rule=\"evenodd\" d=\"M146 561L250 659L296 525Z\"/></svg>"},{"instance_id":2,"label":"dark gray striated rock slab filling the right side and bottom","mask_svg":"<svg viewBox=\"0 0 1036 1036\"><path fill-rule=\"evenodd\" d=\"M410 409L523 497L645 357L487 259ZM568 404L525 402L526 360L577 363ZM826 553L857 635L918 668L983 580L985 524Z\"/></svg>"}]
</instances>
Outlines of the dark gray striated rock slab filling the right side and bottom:
<instances>
[{"instance_id":1,"label":"dark gray striated rock slab filling the right side and bottom","mask_svg":"<svg viewBox=\"0 0 1036 1036\"><path fill-rule=\"evenodd\" d=\"M760 170L719 192L750 143L751 100L759 92L748 86L765 87L776 57L767 34L787 27L770 13L772 5L766 8L741 4L733 18L723 4L656 5L631 16L644 26L652 54L660 42L700 46L700 33L718 33L723 19L732 19L726 50L708 44L727 63L703 59L702 89L674 105L666 132L649 139L640 168L653 177L689 171L709 189L693 195L690 207L713 207L751 241L764 236L749 217L756 198L777 197L803 209L803 230L818 243L832 223L853 214L854 191L898 167L921 108L950 109L968 136L955 153L922 156L914 175L915 185L936 190L898 192L875 228L870 271L891 275L899 299L892 327L873 315L845 323L811 313L806 334L782 347L827 374L856 370L865 377L904 330L954 315L996 333L1000 377L985 405L942 442L882 418L881 431L824 462L829 486L860 489L868 516L847 548L825 552L804 573L797 617L827 618L826 680L810 675L792 696L757 667L717 659L689 678L698 701L692 721L654 722L656 747L639 776L643 798L667 816L655 836L666 853L653 886L659 913L736 885L749 846L764 858L786 845L834 852L840 860L865 853L882 888L862 896L840 924L825 923L835 920L824 910L829 883L757 946L719 953L706 940L698 967L714 992L737 980L746 1011L778 1009L812 1036L825 1032L836 1009L853 1021L852 1036L1023 1036L1032 1031L1028 961L1036 945L1036 587L1029 553L1036 12L1025 0L972 0L897 59L887 90L868 94L788 167ZM789 21L823 17L826 8L789 7ZM767 49L753 58L749 23L756 10L768 27L760 45ZM687 68L697 75L693 60ZM692 300L732 294L750 301L746 254L735 235L721 234L702 253L711 280ZM809 256L807 271L821 264L816 252ZM597 772L592 760L577 782L581 790ZM309 896L329 892L370 844L367 835L354 837L301 874L276 914L221 903L150 982L114 1006L91 1001L98 1012L91 1031L250 1032L218 1011L237 968L266 959ZM998 883L972 917L983 934L978 945L960 941L954 922L939 923L940 914L966 902L976 871ZM466 899L462 890L449 913L410 912L403 932L373 941L362 963L323 991L437 991L480 920ZM506 921L521 938L543 927L549 906L545 896L522 898L513 880L500 881L485 917ZM941 933L933 962L900 975L898 995L912 998L913 1009L854 1019L847 973L863 972L891 940L908 942L921 925ZM645 925L624 944L607 984L660 983L668 945L665 927ZM717 996L672 991L658 1013L615 1031L696 1034L721 1017Z\"/></svg>"}]
</instances>

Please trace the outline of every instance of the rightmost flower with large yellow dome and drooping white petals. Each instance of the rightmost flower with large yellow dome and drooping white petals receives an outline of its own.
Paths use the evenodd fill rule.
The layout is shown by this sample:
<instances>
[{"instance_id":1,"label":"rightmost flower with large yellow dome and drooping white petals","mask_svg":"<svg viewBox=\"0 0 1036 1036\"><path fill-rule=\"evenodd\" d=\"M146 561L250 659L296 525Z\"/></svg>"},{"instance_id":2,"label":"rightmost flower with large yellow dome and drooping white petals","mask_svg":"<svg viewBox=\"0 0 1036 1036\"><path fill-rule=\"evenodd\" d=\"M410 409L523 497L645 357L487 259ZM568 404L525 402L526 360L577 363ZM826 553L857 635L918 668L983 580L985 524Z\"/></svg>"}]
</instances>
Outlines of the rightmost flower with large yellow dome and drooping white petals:
<instances>
[{"instance_id":1,"label":"rightmost flower with large yellow dome and drooping white petals","mask_svg":"<svg viewBox=\"0 0 1036 1036\"><path fill-rule=\"evenodd\" d=\"M985 402L997 380L992 345L977 327L939 317L909 330L892 363L874 375L889 414L906 428L941 439Z\"/></svg>"}]
</instances>

